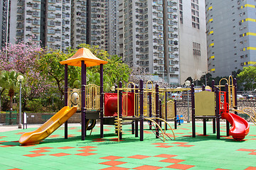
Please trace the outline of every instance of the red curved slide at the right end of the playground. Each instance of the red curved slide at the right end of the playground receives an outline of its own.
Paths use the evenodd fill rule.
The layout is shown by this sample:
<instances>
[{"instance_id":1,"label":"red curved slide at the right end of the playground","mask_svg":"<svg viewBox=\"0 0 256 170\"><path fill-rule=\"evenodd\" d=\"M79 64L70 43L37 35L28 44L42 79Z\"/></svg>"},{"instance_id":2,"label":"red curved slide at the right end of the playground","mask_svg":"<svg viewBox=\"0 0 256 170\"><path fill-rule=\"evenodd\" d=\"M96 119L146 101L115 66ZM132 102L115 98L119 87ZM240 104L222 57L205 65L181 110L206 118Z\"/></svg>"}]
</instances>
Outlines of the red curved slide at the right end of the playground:
<instances>
[{"instance_id":1,"label":"red curved slide at the right end of the playground","mask_svg":"<svg viewBox=\"0 0 256 170\"><path fill-rule=\"evenodd\" d=\"M230 135L233 136L234 140L242 140L249 133L249 123L239 115L235 115L234 113L222 113L221 117L228 120L232 125Z\"/></svg>"}]
</instances>

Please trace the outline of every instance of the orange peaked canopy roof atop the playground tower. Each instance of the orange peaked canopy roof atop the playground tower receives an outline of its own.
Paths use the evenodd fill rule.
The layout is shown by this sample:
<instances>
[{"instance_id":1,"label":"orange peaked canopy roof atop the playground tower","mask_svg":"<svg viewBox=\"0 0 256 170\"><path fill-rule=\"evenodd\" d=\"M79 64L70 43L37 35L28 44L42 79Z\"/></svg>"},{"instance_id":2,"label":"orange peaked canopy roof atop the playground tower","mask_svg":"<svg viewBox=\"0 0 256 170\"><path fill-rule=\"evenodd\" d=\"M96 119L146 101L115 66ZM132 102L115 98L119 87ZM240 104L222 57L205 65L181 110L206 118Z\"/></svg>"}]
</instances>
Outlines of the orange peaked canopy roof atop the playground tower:
<instances>
[{"instance_id":1,"label":"orange peaked canopy roof atop the playground tower","mask_svg":"<svg viewBox=\"0 0 256 170\"><path fill-rule=\"evenodd\" d=\"M78 52L75 52L75 55L68 58L67 60L60 62L60 64L68 64L71 66L81 67L81 61L85 61L86 67L107 64L107 61L100 60L95 55L93 55L89 49L85 47L80 48Z\"/></svg>"}]
</instances>

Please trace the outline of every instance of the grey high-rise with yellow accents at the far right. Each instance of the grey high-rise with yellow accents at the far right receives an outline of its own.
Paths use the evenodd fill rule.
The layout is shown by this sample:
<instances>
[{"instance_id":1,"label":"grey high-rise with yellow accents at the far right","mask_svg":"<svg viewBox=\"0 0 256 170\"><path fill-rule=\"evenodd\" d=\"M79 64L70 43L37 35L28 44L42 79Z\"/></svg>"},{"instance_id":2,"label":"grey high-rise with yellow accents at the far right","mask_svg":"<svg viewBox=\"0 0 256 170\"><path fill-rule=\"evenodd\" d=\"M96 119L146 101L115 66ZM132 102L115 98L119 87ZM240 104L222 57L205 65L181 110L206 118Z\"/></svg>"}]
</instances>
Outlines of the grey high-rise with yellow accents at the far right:
<instances>
[{"instance_id":1,"label":"grey high-rise with yellow accents at the far right","mask_svg":"<svg viewBox=\"0 0 256 170\"><path fill-rule=\"evenodd\" d=\"M255 0L206 0L208 69L223 77L256 64Z\"/></svg>"}]
</instances>

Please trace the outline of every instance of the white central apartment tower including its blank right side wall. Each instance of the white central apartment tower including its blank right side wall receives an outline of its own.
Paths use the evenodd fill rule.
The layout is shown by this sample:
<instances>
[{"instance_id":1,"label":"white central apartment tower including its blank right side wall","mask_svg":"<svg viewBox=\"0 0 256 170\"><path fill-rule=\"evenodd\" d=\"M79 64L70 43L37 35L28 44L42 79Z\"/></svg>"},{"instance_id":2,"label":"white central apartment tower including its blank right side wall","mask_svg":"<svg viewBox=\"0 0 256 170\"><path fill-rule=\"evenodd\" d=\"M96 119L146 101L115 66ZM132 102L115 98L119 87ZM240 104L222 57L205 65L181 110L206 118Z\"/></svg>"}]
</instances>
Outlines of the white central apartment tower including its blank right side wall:
<instances>
[{"instance_id":1,"label":"white central apartment tower including its blank right side wall","mask_svg":"<svg viewBox=\"0 0 256 170\"><path fill-rule=\"evenodd\" d=\"M120 1L119 55L169 84L200 79L207 71L204 7L198 0Z\"/></svg>"}]
</instances>

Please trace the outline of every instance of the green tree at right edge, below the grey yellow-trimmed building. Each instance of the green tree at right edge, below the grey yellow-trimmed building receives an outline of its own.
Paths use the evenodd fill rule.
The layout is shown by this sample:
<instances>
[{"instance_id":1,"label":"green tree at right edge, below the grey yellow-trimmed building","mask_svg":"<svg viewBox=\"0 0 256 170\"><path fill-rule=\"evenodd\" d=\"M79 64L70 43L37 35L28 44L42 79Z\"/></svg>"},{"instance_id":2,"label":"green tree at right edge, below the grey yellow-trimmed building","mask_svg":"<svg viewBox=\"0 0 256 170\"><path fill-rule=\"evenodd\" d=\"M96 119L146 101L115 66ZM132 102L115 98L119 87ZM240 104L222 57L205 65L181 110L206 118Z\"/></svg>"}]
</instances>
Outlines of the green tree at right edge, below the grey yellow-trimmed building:
<instances>
[{"instance_id":1,"label":"green tree at right edge, below the grey yellow-trimmed building","mask_svg":"<svg viewBox=\"0 0 256 170\"><path fill-rule=\"evenodd\" d=\"M244 67L242 72L238 74L240 84L245 86L245 90L253 90L256 83L256 67Z\"/></svg>"}]
</instances>

